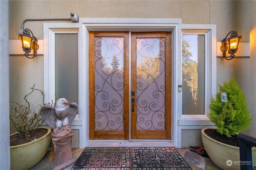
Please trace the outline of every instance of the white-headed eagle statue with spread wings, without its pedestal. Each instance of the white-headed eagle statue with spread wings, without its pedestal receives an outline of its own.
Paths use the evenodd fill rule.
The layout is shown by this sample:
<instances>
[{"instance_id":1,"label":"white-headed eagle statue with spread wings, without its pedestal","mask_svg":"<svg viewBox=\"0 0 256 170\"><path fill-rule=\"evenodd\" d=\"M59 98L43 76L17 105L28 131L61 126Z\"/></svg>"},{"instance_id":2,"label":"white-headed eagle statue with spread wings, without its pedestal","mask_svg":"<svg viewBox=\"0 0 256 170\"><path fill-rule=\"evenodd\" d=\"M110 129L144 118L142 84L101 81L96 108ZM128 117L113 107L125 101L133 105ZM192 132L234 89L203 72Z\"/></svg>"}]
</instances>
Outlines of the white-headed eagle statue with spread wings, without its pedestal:
<instances>
[{"instance_id":1,"label":"white-headed eagle statue with spread wings, without its pedestal","mask_svg":"<svg viewBox=\"0 0 256 170\"><path fill-rule=\"evenodd\" d=\"M56 107L45 105L41 108L40 113L44 121L53 130L53 133L61 126L65 126L62 130L70 128L78 113L78 104L72 102L68 106L65 98L60 98L56 102Z\"/></svg>"}]
</instances>

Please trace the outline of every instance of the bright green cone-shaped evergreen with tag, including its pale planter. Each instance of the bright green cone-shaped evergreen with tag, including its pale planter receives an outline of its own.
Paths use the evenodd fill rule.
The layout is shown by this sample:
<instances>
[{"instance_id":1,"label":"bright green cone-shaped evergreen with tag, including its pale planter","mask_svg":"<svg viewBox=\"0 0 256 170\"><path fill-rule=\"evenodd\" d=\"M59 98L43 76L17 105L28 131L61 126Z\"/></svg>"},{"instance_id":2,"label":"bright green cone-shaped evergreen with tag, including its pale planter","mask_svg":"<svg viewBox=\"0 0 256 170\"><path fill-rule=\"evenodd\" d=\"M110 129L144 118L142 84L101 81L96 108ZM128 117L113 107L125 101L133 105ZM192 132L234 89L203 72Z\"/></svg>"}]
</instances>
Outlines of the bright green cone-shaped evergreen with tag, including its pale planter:
<instances>
[{"instance_id":1,"label":"bright green cone-shaped evergreen with tag, including its pale planter","mask_svg":"<svg viewBox=\"0 0 256 170\"><path fill-rule=\"evenodd\" d=\"M214 164L224 170L240 169L239 140L237 134L247 130L251 123L245 94L236 78L218 84L219 91L210 100L208 117L216 128L202 129L202 142ZM256 162L256 149L252 148L252 165Z\"/></svg>"}]
</instances>

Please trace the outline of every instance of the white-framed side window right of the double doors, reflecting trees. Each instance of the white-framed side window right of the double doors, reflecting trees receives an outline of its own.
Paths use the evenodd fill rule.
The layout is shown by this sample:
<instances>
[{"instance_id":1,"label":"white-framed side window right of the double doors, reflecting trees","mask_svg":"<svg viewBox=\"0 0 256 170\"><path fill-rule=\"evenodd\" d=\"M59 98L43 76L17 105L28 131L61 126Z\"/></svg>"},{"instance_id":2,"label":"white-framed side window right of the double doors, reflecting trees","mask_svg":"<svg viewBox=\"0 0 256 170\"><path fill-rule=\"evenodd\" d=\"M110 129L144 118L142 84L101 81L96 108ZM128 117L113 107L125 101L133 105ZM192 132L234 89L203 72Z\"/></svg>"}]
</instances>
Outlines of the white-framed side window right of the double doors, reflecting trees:
<instances>
[{"instance_id":1,"label":"white-framed side window right of the double doors, reflecting trees","mask_svg":"<svg viewBox=\"0 0 256 170\"><path fill-rule=\"evenodd\" d=\"M205 119L216 94L216 25L182 27L182 117Z\"/></svg>"}]
</instances>

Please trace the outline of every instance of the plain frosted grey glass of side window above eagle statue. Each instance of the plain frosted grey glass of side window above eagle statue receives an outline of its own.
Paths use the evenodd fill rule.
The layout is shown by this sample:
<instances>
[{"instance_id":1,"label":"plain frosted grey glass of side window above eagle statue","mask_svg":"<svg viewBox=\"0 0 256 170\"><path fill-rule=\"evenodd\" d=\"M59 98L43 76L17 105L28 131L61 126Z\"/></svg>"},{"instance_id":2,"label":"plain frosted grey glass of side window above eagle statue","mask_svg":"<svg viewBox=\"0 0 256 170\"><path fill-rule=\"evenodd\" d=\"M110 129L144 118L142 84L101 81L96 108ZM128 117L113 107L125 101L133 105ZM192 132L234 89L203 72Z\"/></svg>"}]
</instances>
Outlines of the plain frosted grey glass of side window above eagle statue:
<instances>
[{"instance_id":1,"label":"plain frosted grey glass of side window above eagle statue","mask_svg":"<svg viewBox=\"0 0 256 170\"><path fill-rule=\"evenodd\" d=\"M78 34L55 34L55 96L78 104Z\"/></svg>"}]
</instances>

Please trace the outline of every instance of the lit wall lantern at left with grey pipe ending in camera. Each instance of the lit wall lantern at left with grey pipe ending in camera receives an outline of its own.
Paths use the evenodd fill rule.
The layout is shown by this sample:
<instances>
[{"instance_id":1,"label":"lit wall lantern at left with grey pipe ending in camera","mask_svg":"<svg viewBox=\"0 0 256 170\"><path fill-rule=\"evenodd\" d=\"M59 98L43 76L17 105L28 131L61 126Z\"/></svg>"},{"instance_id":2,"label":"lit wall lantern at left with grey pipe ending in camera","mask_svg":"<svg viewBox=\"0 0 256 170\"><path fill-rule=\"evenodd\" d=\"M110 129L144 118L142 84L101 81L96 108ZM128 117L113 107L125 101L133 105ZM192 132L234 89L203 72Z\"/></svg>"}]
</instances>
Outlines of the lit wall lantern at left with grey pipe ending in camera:
<instances>
[{"instance_id":1,"label":"lit wall lantern at left with grey pipe ending in camera","mask_svg":"<svg viewBox=\"0 0 256 170\"><path fill-rule=\"evenodd\" d=\"M28 18L22 21L21 23L21 29L19 31L19 37L21 39L22 42L22 49L25 52L25 56L29 59L33 59L34 57L37 56L36 50L38 50L39 45L37 44L37 38L33 35L32 31L30 31L30 29L25 28L24 29L24 23L26 21L68 21L71 20L72 22L79 22L79 16L73 12L70 13L70 17L71 18ZM32 36L31 36L31 34ZM33 49L33 57L29 57L30 56L30 52L31 49Z\"/></svg>"}]
</instances>

